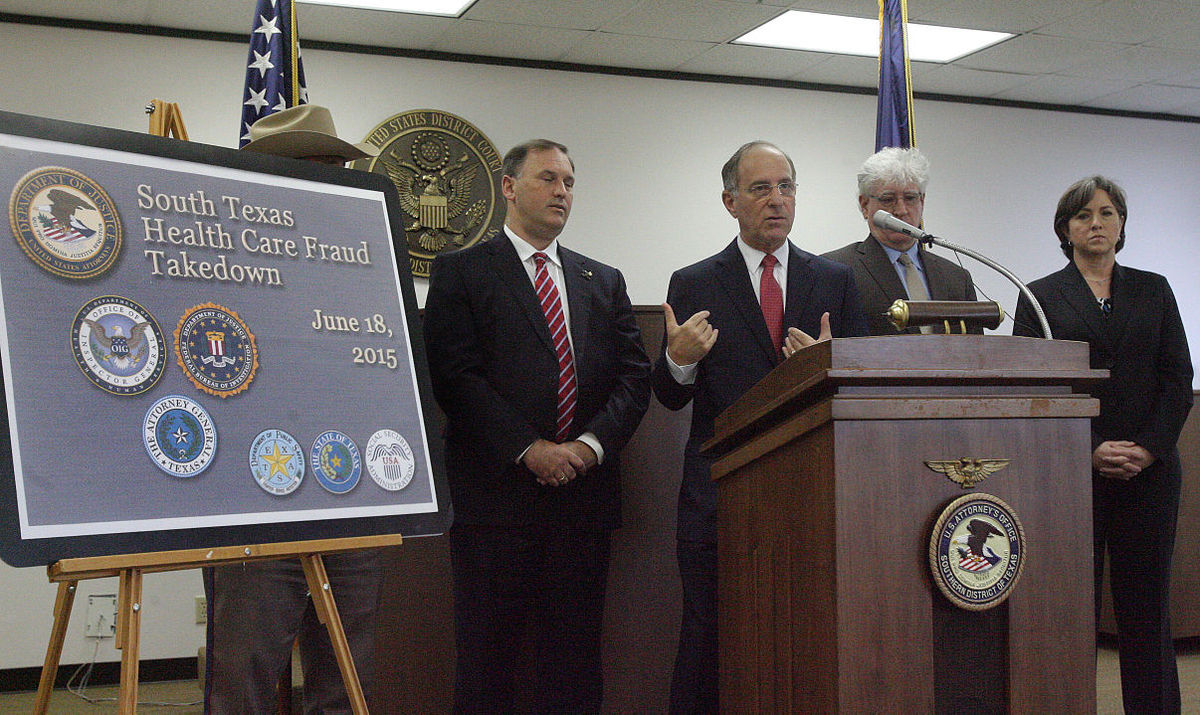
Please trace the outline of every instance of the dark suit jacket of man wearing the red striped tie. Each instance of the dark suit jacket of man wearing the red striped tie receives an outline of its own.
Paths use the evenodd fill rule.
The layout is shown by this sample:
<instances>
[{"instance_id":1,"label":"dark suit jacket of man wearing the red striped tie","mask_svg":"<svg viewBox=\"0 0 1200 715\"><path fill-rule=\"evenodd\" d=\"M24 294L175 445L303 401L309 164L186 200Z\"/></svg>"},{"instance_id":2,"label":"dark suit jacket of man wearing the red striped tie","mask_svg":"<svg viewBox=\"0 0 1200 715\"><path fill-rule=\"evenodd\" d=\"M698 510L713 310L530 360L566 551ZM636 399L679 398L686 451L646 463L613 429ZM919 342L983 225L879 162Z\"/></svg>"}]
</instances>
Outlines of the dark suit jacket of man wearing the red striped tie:
<instances>
[{"instance_id":1,"label":"dark suit jacket of man wearing the red striped tie","mask_svg":"<svg viewBox=\"0 0 1200 715\"><path fill-rule=\"evenodd\" d=\"M508 236L438 256L425 304L433 391L446 413L455 522L620 525L619 453L649 404L649 360L620 271L559 246L578 396L569 439L592 432L604 463L544 487L517 457L554 441L558 359Z\"/></svg>"}]
</instances>

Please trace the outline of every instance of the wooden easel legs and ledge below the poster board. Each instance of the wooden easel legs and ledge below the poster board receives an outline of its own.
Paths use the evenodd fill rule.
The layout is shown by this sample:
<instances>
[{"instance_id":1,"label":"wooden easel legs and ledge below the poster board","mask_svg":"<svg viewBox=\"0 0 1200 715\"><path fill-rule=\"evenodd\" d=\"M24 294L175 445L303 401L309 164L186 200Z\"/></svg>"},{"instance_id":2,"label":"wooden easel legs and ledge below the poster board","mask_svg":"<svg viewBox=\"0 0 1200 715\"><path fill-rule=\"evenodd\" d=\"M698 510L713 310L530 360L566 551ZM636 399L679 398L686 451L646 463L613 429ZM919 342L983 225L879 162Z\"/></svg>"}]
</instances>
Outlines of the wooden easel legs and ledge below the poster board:
<instances>
[{"instance_id":1,"label":"wooden easel legs and ledge below the poster board","mask_svg":"<svg viewBox=\"0 0 1200 715\"><path fill-rule=\"evenodd\" d=\"M156 553L136 553L110 557L90 557L83 559L62 559L47 567L50 582L59 584L59 594L54 601L54 626L50 630L50 642L46 648L46 662L42 665L42 679L37 685L37 701L34 713L43 714L50 704L54 690L54 678L62 655L62 641L71 619L71 606L74 603L76 585L88 578L120 578L116 613L116 648L121 649L121 685L118 697L118 711L122 715L137 711L138 703L138 637L142 625L142 576L162 571L181 571L204 566L223 566L240 561L262 561L299 557L308 582L308 593L320 623L329 629L329 638L334 644L337 667L342 672L346 693L355 715L367 713L366 699L359 673L346 642L346 631L337 613L334 591L325 575L326 553L356 551L396 546L401 543L400 534L382 536L353 536L347 539L319 539L313 541L287 541L281 543L260 543L253 546L222 546L216 548L191 548L164 551Z\"/></svg>"}]
</instances>

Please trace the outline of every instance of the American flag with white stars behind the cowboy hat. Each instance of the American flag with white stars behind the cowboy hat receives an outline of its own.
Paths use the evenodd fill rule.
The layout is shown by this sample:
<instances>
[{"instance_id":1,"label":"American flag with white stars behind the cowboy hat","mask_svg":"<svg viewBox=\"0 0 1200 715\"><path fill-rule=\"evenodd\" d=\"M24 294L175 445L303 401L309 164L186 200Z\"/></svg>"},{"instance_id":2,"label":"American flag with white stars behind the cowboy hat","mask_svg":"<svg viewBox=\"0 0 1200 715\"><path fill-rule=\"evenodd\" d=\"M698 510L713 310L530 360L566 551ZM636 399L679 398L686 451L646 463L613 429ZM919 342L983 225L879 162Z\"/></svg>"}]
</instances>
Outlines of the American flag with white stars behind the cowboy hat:
<instances>
[{"instance_id":1,"label":"American flag with white stars behind the cowboy hat","mask_svg":"<svg viewBox=\"0 0 1200 715\"><path fill-rule=\"evenodd\" d=\"M308 101L293 0L258 0L257 5L246 59L239 148L250 142L250 125Z\"/></svg>"}]
</instances>

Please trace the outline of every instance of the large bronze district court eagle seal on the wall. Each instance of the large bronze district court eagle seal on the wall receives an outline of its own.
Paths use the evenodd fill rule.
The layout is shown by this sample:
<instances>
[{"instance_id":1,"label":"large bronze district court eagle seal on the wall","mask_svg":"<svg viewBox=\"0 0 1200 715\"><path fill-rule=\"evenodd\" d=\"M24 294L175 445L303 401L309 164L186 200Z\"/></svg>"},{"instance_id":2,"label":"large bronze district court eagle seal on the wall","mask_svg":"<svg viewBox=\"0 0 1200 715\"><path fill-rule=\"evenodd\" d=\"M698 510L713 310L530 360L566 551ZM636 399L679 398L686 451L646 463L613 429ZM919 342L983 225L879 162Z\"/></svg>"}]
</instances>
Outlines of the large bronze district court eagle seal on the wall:
<instances>
[{"instance_id":1,"label":"large bronze district court eagle seal on the wall","mask_svg":"<svg viewBox=\"0 0 1200 715\"><path fill-rule=\"evenodd\" d=\"M445 112L416 109L385 119L365 142L378 146L379 156L350 166L396 185L414 276L428 278L438 253L500 233L500 155L474 125Z\"/></svg>"}]
</instances>

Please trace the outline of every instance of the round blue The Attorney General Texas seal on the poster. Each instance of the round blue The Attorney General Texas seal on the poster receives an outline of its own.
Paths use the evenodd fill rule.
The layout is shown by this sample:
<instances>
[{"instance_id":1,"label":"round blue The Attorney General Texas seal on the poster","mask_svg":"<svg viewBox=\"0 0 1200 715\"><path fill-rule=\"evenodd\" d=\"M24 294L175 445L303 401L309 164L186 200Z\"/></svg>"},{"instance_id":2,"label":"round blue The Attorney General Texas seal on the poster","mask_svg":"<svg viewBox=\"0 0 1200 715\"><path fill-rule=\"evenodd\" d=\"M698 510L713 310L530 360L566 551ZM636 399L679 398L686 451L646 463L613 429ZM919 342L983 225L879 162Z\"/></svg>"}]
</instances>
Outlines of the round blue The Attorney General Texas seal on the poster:
<instances>
[{"instance_id":1,"label":"round blue The Attorney General Texas seal on the poster","mask_svg":"<svg viewBox=\"0 0 1200 715\"><path fill-rule=\"evenodd\" d=\"M169 395L146 410L142 441L158 469L172 476L196 476L217 453L217 428L199 403Z\"/></svg>"}]
</instances>

